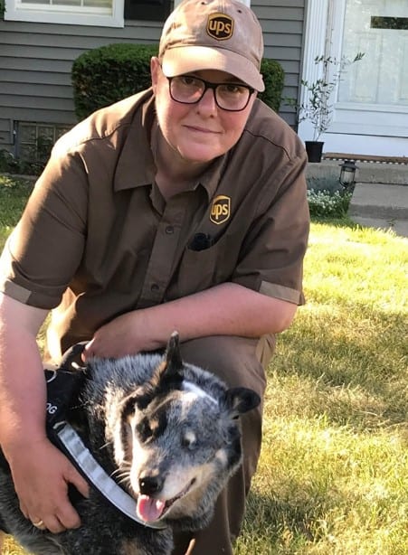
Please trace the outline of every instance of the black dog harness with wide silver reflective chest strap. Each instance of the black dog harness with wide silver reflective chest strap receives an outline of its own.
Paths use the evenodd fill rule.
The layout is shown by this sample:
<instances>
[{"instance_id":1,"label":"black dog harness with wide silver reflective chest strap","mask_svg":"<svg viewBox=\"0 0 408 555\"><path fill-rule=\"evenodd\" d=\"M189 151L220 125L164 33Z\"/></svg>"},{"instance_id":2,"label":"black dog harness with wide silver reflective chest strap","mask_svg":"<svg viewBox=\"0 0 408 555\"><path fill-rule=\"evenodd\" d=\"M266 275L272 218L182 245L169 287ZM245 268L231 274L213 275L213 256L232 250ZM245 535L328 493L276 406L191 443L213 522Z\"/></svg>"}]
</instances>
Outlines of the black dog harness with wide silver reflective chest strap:
<instances>
[{"instance_id":1,"label":"black dog harness with wide silver reflective chest strap","mask_svg":"<svg viewBox=\"0 0 408 555\"><path fill-rule=\"evenodd\" d=\"M121 513L126 514L132 521L143 526L163 530L163 522L145 522L138 518L137 504L133 497L127 494L99 465L84 445L81 437L66 420L66 414L72 407L72 401L78 400L78 395L86 380L86 367L80 366L75 359L81 360L80 355L85 343L78 343L65 353L61 366L57 370L45 370L47 382L46 428L47 436L52 444L68 456L74 466L78 468L94 487L109 503L112 503ZM3 452L0 450L0 466L9 471ZM0 518L0 530L6 530L5 523Z\"/></svg>"}]
</instances>

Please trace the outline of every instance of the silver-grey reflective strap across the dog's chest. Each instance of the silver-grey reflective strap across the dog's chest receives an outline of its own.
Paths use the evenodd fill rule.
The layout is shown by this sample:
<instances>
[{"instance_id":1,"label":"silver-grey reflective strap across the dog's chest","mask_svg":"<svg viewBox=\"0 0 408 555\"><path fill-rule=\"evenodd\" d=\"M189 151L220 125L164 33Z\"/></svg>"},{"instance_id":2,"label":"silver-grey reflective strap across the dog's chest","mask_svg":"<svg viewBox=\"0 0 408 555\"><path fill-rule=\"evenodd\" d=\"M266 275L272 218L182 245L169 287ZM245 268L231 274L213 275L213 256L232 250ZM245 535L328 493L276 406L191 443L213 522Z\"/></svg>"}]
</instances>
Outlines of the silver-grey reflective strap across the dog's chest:
<instances>
[{"instance_id":1,"label":"silver-grey reflective strap across the dog's chest","mask_svg":"<svg viewBox=\"0 0 408 555\"><path fill-rule=\"evenodd\" d=\"M133 497L123 491L103 470L95 458L90 454L90 450L85 447L81 437L68 422L57 422L52 428L62 443L62 446L71 456L73 462L76 463L82 473L100 493L104 495L110 503L115 505L121 513L126 514L132 521L147 526L147 528L154 528L155 530L164 530L167 528L164 522L145 522L138 518L136 513L137 505Z\"/></svg>"}]
</instances>

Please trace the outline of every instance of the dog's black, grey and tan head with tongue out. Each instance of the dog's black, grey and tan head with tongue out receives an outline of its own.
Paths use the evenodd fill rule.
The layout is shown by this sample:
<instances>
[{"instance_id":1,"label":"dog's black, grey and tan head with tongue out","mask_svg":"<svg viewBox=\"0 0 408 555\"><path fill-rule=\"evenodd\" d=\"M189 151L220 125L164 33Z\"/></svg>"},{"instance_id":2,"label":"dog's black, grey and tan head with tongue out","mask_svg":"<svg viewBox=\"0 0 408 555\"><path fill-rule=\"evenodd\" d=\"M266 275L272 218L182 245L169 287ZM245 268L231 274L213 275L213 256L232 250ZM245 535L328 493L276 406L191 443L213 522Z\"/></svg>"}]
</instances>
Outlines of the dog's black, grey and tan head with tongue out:
<instances>
[{"instance_id":1,"label":"dog's black, grey and tan head with tongue out","mask_svg":"<svg viewBox=\"0 0 408 555\"><path fill-rule=\"evenodd\" d=\"M242 459L238 417L259 396L228 389L209 372L185 364L178 335L151 379L121 403L122 475L145 522L171 519L183 528L204 526L216 497Z\"/></svg>"}]
</instances>

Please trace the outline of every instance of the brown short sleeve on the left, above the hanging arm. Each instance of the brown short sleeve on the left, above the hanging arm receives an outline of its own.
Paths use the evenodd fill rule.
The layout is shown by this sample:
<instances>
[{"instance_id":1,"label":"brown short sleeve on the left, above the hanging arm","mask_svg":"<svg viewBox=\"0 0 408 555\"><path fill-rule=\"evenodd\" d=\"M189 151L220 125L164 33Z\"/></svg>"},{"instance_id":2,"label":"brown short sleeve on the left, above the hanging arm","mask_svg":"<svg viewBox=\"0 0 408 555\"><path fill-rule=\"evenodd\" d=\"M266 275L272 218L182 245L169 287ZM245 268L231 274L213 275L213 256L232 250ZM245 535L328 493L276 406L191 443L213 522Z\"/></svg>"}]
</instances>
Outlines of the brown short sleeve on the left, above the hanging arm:
<instances>
[{"instance_id":1,"label":"brown short sleeve on the left, above the hanging arm","mask_svg":"<svg viewBox=\"0 0 408 555\"><path fill-rule=\"evenodd\" d=\"M0 290L24 304L57 306L81 263L87 175L81 155L53 155L0 259Z\"/></svg>"}]
</instances>

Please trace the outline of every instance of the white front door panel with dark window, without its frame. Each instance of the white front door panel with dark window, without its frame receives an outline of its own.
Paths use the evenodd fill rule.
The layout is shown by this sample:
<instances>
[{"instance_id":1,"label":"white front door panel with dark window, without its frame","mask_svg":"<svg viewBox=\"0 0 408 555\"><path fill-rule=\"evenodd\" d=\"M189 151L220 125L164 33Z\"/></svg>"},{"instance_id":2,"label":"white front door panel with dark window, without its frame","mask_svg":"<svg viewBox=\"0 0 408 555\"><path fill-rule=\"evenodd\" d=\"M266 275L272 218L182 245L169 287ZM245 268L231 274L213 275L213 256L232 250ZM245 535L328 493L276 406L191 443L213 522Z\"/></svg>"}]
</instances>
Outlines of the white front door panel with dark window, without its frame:
<instances>
[{"instance_id":1,"label":"white front door panel with dark window, without its frame","mask_svg":"<svg viewBox=\"0 0 408 555\"><path fill-rule=\"evenodd\" d=\"M408 136L408 0L346 0L342 39L346 58L365 57L343 76L333 130Z\"/></svg>"}]
</instances>

